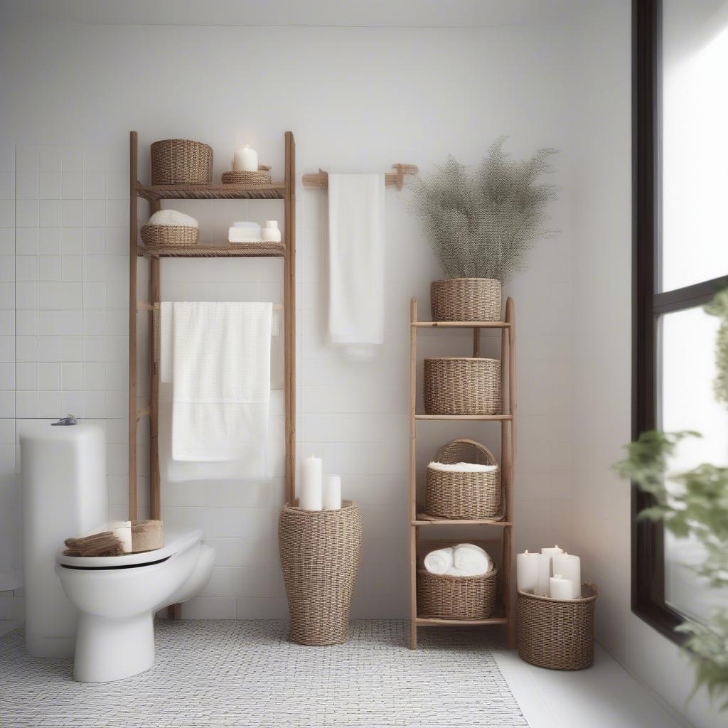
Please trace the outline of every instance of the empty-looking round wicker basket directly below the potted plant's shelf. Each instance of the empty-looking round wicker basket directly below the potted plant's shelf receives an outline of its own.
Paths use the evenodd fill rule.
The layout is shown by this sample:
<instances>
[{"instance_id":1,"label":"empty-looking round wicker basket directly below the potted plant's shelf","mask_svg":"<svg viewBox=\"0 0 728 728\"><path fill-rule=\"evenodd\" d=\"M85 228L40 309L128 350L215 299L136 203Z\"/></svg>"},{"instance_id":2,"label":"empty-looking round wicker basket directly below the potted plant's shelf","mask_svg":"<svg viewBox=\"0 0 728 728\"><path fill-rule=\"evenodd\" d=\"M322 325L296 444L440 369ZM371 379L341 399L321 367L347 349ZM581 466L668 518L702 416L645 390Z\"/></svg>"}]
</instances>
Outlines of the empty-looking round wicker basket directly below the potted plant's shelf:
<instances>
[{"instance_id":1,"label":"empty-looking round wicker basket directly below the potted plant's shelf","mask_svg":"<svg viewBox=\"0 0 728 728\"><path fill-rule=\"evenodd\" d=\"M424 411L444 415L501 414L498 359L438 357L424 360Z\"/></svg>"}]
</instances>

